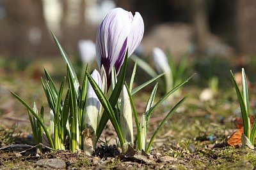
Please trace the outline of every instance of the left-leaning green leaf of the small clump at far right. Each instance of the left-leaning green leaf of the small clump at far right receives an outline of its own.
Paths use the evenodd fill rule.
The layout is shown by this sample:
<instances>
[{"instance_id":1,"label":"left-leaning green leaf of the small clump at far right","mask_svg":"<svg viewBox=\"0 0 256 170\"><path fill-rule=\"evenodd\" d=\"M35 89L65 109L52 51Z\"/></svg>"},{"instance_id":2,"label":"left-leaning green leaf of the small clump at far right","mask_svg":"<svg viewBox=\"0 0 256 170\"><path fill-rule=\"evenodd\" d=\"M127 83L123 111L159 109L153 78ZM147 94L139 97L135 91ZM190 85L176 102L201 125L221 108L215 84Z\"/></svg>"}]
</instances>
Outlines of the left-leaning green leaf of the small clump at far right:
<instances>
[{"instance_id":1,"label":"left-leaning green leaf of the small clump at far right","mask_svg":"<svg viewBox=\"0 0 256 170\"><path fill-rule=\"evenodd\" d=\"M232 81L234 83L234 86L235 86L235 89L236 89L236 94L237 94L237 98L238 98L238 101L239 101L239 104L240 104L240 109L241 109L241 114L242 114L242 118L243 118L243 125L244 125L244 134L247 138L250 139L250 124L249 124L249 120L248 120L248 113L247 110L246 110L246 106L245 106L245 103L244 103L244 99L243 99L243 96L239 90L239 87L236 83L236 79L234 77L234 74L232 73L232 71L230 70L230 73L232 75Z\"/></svg>"}]
</instances>

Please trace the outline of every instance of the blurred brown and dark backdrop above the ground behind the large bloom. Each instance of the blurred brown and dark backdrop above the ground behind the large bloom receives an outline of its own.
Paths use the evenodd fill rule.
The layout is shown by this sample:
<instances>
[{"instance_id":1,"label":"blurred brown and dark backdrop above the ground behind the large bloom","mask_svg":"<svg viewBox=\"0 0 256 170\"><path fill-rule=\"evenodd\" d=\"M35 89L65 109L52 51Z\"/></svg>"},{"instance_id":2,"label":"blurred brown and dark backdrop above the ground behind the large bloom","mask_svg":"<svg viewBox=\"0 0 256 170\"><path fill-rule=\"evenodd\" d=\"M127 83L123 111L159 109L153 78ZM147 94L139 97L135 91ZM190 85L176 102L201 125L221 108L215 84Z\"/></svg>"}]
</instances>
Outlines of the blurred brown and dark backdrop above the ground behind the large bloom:
<instances>
[{"instance_id":1,"label":"blurred brown and dark backdrop above the ground behind the large bloom","mask_svg":"<svg viewBox=\"0 0 256 170\"><path fill-rule=\"evenodd\" d=\"M95 41L102 18L116 6L143 16L145 55L154 46L168 48L175 56L186 51L199 57L256 52L252 0L0 0L0 55L58 55L50 31L63 46L77 50L79 39Z\"/></svg>"}]
</instances>

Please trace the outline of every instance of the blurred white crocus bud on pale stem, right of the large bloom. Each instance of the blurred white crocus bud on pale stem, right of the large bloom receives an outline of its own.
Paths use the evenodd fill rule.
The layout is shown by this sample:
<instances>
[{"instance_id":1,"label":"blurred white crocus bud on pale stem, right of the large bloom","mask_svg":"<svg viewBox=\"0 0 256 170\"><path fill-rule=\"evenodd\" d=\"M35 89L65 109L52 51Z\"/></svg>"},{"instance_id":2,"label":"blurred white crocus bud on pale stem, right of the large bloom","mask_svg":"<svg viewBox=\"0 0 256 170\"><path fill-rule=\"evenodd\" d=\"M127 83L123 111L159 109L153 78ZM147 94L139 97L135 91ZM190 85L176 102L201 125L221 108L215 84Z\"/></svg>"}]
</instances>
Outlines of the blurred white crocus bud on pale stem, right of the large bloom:
<instances>
[{"instance_id":1,"label":"blurred white crocus bud on pale stem, right of the large bloom","mask_svg":"<svg viewBox=\"0 0 256 170\"><path fill-rule=\"evenodd\" d=\"M172 70L170 68L170 65L168 64L168 59L160 48L155 47L152 52L152 57L154 60L154 64L156 66L157 72L165 73L164 79L165 79L165 85L166 85L166 92L172 89L173 86L173 76L172 76Z\"/></svg>"}]
</instances>

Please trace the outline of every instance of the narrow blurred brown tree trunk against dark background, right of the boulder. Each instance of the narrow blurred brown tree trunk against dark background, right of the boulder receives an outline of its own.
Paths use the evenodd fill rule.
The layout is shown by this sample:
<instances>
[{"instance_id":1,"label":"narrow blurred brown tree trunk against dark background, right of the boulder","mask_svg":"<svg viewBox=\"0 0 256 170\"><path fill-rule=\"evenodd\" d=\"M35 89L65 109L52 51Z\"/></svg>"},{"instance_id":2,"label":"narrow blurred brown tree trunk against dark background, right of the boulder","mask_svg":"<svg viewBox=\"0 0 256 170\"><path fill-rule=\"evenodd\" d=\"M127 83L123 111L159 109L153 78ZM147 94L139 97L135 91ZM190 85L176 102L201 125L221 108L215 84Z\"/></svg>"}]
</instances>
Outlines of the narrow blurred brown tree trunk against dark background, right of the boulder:
<instances>
[{"instance_id":1,"label":"narrow blurred brown tree trunk against dark background, right of the boulder","mask_svg":"<svg viewBox=\"0 0 256 170\"><path fill-rule=\"evenodd\" d=\"M199 53L204 53L209 36L208 13L205 0L192 0L191 13L195 27L195 42Z\"/></svg>"}]
</instances>

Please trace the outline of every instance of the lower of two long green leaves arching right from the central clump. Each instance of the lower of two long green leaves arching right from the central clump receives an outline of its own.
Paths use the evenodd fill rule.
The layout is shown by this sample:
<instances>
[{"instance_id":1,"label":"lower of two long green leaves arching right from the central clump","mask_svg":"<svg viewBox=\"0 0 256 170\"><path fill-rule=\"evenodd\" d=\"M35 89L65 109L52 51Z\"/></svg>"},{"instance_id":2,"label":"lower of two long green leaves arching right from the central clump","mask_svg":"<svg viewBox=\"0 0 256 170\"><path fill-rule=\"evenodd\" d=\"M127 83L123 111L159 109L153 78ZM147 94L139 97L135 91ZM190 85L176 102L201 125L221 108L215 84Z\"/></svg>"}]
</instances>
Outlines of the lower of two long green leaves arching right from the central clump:
<instances>
[{"instance_id":1,"label":"lower of two long green leaves arching right from the central clump","mask_svg":"<svg viewBox=\"0 0 256 170\"><path fill-rule=\"evenodd\" d=\"M177 108L179 108L179 106L184 103L184 101L187 99L187 97L189 96L189 94L187 96L185 96L183 99L181 99L179 101L179 103L177 103L172 110L166 115L166 117L164 117L164 119L162 120L161 124L157 127L156 131L154 132L153 136L151 137L148 146L147 146L147 150L146 153L149 152L150 147L152 146L152 143L154 141L154 139L156 138L157 132L159 132L159 130L161 129L161 127L164 125L164 123L166 122L166 120L168 120L168 118L174 113L175 110L177 110Z\"/></svg>"}]
</instances>

